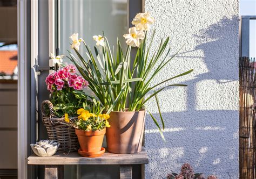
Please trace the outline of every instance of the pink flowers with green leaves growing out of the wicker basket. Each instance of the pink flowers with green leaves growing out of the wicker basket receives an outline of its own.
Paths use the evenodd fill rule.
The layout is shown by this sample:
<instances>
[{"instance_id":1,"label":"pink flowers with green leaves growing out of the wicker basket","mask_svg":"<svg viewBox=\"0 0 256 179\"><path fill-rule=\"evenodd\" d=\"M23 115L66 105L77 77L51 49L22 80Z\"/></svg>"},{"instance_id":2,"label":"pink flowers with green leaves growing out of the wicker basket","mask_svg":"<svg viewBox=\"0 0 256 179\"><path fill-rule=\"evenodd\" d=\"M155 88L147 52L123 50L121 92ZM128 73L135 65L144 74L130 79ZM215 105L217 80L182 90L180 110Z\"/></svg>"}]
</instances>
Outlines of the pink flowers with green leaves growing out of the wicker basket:
<instances>
[{"instance_id":1,"label":"pink flowers with green leaves growing out of the wicker basket","mask_svg":"<svg viewBox=\"0 0 256 179\"><path fill-rule=\"evenodd\" d=\"M76 68L68 65L45 79L47 89L51 92L50 101L55 114L62 117L65 113L76 116L76 111L90 103L82 91L89 83L82 76L76 74Z\"/></svg>"}]
</instances>

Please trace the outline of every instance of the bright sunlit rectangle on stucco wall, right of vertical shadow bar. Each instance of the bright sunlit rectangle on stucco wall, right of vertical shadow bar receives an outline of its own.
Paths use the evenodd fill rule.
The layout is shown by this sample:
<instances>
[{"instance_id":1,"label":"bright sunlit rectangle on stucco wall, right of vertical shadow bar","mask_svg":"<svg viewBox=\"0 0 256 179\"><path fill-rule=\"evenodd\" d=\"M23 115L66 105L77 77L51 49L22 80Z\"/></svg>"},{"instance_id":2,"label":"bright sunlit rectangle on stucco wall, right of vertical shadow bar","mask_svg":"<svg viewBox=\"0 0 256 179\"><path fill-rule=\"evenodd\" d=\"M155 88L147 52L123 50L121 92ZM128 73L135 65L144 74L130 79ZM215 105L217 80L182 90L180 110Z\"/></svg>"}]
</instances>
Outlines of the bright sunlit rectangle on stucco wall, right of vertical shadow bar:
<instances>
[{"instance_id":1,"label":"bright sunlit rectangle on stucco wall, right of vertical shadow bar","mask_svg":"<svg viewBox=\"0 0 256 179\"><path fill-rule=\"evenodd\" d=\"M238 110L238 81L202 80L196 85L196 109L201 110ZM214 98L214 100L213 100Z\"/></svg>"}]
</instances>

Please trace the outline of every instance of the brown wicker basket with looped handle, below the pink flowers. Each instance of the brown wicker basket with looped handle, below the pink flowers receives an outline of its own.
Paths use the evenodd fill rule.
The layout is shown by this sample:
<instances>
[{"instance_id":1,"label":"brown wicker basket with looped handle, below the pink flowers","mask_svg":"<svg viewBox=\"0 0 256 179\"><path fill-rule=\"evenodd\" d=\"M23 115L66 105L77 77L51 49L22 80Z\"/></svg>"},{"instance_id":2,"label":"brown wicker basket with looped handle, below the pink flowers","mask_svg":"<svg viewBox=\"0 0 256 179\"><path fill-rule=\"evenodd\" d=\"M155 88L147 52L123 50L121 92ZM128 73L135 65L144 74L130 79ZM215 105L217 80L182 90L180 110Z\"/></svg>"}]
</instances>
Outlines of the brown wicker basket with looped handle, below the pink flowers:
<instances>
[{"instance_id":1,"label":"brown wicker basket with looped handle, below the pink flowers","mask_svg":"<svg viewBox=\"0 0 256 179\"><path fill-rule=\"evenodd\" d=\"M50 114L47 114L46 109L49 108ZM79 148L75 128L66 125L64 118L58 118L53 113L53 105L50 101L45 100L41 104L42 119L46 127L50 140L55 140L60 143L58 152L73 152ZM74 120L77 118L70 118Z\"/></svg>"}]
</instances>

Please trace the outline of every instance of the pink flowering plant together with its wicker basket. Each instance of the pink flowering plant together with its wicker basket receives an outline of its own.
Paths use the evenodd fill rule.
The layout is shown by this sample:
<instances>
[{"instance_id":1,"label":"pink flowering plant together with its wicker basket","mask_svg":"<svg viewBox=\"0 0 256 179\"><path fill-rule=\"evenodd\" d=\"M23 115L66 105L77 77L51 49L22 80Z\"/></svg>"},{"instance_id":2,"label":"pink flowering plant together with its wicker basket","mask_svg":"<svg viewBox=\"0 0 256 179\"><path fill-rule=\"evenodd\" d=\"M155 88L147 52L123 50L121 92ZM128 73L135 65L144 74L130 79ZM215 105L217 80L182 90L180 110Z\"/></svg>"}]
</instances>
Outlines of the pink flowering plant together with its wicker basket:
<instances>
[{"instance_id":1,"label":"pink flowering plant together with its wicker basket","mask_svg":"<svg viewBox=\"0 0 256 179\"><path fill-rule=\"evenodd\" d=\"M59 152L77 151L79 146L75 128L68 126L66 121L75 120L77 110L83 108L83 105L90 105L91 101L87 100L82 91L88 82L76 74L73 65L64 66L49 74L45 82L51 92L50 101L45 100L41 105L48 137L59 142Z\"/></svg>"}]
</instances>

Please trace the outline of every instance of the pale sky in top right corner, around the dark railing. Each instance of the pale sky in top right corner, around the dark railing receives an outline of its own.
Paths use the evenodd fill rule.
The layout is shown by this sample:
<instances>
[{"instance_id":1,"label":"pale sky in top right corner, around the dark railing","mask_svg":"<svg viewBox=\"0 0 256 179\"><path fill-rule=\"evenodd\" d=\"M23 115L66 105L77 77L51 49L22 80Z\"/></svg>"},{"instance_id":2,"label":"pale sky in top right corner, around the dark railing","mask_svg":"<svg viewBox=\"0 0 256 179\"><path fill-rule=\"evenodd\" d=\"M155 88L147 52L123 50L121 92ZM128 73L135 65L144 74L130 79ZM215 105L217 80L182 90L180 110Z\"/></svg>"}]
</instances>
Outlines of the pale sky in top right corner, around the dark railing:
<instances>
[{"instance_id":1,"label":"pale sky in top right corner, around the dark railing","mask_svg":"<svg viewBox=\"0 0 256 179\"><path fill-rule=\"evenodd\" d=\"M240 0L240 16L256 16L256 0ZM250 20L250 57L256 58L256 20Z\"/></svg>"}]
</instances>

